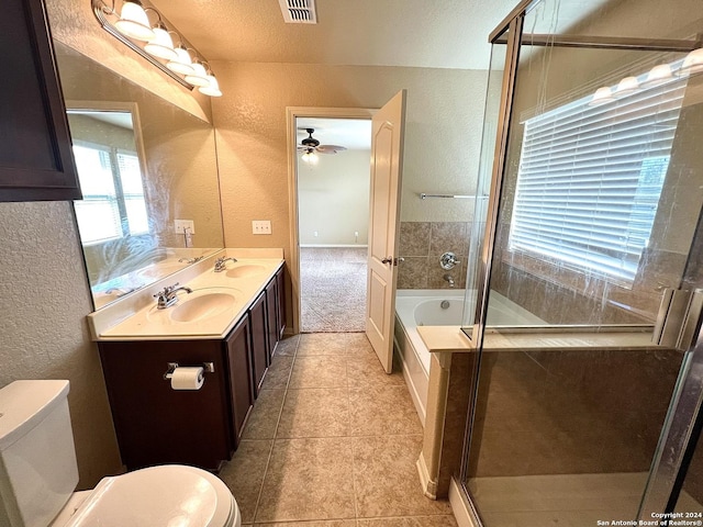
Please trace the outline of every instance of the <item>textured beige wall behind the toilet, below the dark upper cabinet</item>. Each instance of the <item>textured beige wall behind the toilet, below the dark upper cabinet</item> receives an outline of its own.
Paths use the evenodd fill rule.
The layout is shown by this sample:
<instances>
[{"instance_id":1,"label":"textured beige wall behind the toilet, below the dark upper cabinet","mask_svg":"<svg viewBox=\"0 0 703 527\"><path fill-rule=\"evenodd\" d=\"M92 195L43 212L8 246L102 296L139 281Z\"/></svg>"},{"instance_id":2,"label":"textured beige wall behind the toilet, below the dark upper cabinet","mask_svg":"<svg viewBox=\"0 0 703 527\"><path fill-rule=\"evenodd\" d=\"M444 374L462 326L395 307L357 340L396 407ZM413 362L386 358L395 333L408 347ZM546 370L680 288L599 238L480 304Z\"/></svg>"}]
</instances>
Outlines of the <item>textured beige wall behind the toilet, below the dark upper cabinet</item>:
<instances>
[{"instance_id":1,"label":"textured beige wall behind the toilet, below the dark upper cabinet","mask_svg":"<svg viewBox=\"0 0 703 527\"><path fill-rule=\"evenodd\" d=\"M0 386L68 379L80 487L120 470L92 311L68 202L0 203Z\"/></svg>"}]
</instances>

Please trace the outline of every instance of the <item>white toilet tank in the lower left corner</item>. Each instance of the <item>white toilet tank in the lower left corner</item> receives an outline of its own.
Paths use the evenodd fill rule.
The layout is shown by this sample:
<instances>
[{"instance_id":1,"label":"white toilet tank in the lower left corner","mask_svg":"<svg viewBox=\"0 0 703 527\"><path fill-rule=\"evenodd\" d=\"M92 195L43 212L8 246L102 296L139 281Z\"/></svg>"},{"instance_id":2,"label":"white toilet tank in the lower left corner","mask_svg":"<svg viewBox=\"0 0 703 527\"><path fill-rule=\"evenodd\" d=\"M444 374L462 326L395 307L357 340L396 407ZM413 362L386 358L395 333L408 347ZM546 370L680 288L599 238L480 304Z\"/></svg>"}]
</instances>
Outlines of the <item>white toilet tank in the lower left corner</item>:
<instances>
[{"instance_id":1,"label":"white toilet tank in the lower left corner","mask_svg":"<svg viewBox=\"0 0 703 527\"><path fill-rule=\"evenodd\" d=\"M78 484L68 381L0 390L0 526L46 527Z\"/></svg>"}]
</instances>

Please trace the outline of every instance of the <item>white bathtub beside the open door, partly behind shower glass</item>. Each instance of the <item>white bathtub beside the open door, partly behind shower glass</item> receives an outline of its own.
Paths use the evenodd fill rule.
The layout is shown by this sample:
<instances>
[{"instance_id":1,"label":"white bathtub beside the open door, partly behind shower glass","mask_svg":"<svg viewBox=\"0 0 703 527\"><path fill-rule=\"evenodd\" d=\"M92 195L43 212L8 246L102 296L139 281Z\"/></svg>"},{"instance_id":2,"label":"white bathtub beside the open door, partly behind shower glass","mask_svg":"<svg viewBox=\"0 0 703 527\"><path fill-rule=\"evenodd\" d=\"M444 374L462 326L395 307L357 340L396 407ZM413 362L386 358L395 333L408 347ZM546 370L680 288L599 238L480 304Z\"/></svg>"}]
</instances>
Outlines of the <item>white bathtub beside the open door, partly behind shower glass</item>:
<instances>
[{"instance_id":1,"label":"white bathtub beside the open door, partly behind shower glass","mask_svg":"<svg viewBox=\"0 0 703 527\"><path fill-rule=\"evenodd\" d=\"M460 326L464 315L464 296L465 291L460 289L403 289L398 291L395 298L393 348L423 426L427 406L431 357L417 333L417 326ZM491 291L488 323L495 326L546 324L542 318L495 291Z\"/></svg>"}]
</instances>

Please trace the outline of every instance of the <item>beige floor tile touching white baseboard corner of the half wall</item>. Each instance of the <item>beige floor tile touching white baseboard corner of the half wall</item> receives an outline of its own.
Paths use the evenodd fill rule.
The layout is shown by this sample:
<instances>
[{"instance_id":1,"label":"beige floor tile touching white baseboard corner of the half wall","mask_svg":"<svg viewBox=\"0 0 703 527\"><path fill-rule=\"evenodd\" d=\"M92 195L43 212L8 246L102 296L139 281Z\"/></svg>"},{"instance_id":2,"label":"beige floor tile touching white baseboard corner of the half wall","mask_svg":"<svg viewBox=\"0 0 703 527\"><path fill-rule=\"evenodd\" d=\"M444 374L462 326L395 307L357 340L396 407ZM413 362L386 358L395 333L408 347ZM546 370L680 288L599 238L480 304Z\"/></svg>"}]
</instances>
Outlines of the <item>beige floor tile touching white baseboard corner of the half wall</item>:
<instances>
[{"instance_id":1,"label":"beige floor tile touching white baseboard corner of the half wall","mask_svg":"<svg viewBox=\"0 0 703 527\"><path fill-rule=\"evenodd\" d=\"M354 487L359 518L451 514L448 502L429 500L422 492L415 468L421 449L422 436L355 439Z\"/></svg>"}]
</instances>

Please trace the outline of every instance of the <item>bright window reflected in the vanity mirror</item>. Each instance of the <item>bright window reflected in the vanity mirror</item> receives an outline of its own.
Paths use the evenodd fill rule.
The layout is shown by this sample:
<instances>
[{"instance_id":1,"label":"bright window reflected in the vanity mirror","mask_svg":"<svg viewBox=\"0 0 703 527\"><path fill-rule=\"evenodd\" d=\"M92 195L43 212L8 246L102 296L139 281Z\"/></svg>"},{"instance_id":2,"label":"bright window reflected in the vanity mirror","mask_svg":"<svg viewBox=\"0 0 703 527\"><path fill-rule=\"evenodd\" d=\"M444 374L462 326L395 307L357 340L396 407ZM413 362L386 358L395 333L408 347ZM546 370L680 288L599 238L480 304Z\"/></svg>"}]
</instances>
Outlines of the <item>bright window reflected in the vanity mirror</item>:
<instances>
[{"instance_id":1,"label":"bright window reflected in the vanity mirror","mask_svg":"<svg viewBox=\"0 0 703 527\"><path fill-rule=\"evenodd\" d=\"M75 201L83 244L148 233L148 216L140 159L130 153L80 142L74 158L83 193Z\"/></svg>"}]
</instances>

